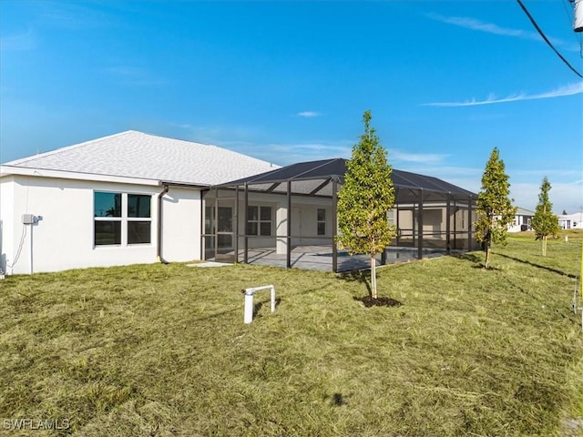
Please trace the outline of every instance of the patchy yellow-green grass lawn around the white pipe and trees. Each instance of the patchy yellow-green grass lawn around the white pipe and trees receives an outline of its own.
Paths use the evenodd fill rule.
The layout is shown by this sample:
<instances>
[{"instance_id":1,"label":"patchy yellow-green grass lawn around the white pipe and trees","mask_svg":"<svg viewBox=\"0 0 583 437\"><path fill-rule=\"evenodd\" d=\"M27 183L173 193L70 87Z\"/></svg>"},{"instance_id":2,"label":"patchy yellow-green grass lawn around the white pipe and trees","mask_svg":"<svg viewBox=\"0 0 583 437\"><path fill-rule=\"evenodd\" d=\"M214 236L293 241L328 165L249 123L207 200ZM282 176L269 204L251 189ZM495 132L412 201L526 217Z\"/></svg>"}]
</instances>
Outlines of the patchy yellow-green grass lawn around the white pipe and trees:
<instances>
[{"instance_id":1,"label":"patchy yellow-green grass lawn around the white pipe and trees","mask_svg":"<svg viewBox=\"0 0 583 437\"><path fill-rule=\"evenodd\" d=\"M581 234L357 276L182 264L0 281L6 435L583 435ZM570 276L569 276L570 275ZM258 292L243 324L247 287ZM66 421L7 430L10 421ZM8 421L8 422L6 422ZM581 427L578 424L581 423ZM14 428L13 425L12 428Z\"/></svg>"}]
</instances>

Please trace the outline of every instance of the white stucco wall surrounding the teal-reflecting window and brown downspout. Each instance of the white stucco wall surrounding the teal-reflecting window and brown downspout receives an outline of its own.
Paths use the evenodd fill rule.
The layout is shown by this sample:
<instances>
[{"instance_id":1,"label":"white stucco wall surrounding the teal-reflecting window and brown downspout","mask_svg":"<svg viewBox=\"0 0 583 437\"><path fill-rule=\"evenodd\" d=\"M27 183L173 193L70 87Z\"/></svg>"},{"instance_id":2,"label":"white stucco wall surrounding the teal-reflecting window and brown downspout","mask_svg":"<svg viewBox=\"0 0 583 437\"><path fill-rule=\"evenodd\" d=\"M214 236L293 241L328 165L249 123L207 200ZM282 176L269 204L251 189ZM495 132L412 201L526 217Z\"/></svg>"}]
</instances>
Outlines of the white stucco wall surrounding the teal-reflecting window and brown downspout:
<instances>
[{"instance_id":1,"label":"white stucco wall surrounding the teal-reflecting window and brown downspout","mask_svg":"<svg viewBox=\"0 0 583 437\"><path fill-rule=\"evenodd\" d=\"M30 273L31 268L33 272L41 272L157 261L161 187L21 175L7 176L0 181L0 261L6 273ZM94 191L150 195L151 242L96 247ZM199 190L170 188L163 208L164 258L169 261L198 259ZM42 219L34 225L24 225L23 214L34 214Z\"/></svg>"}]
</instances>

